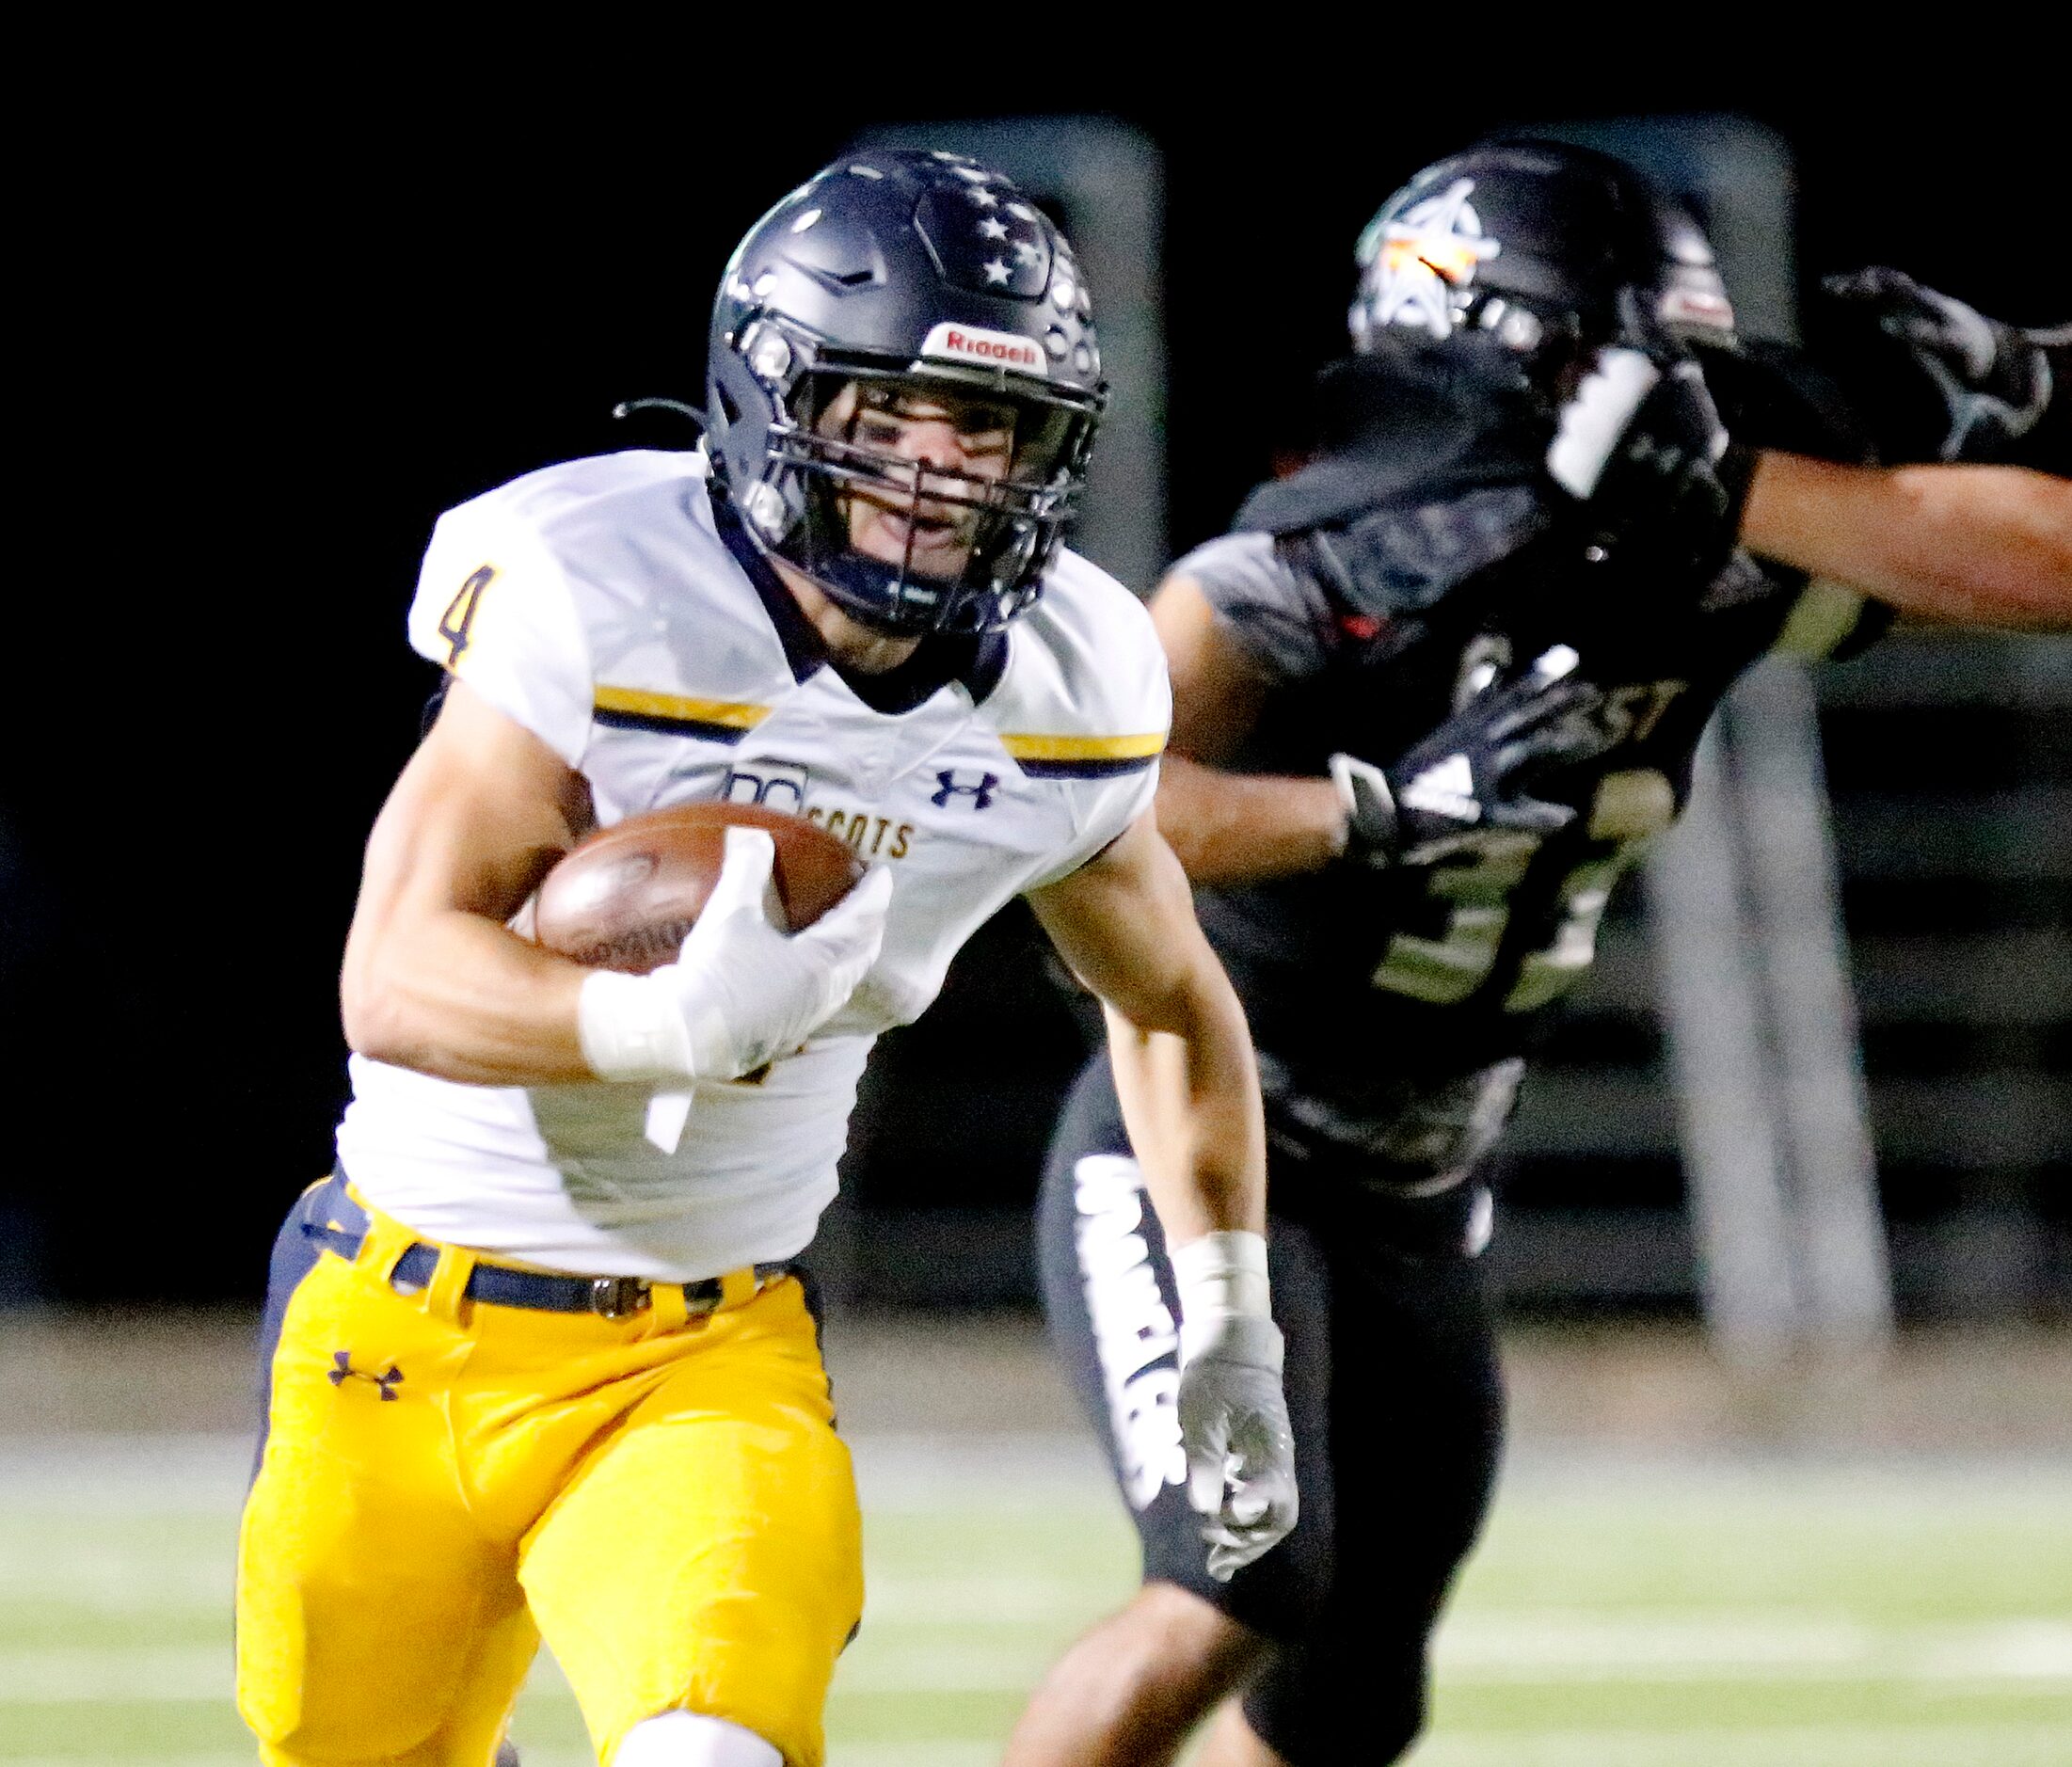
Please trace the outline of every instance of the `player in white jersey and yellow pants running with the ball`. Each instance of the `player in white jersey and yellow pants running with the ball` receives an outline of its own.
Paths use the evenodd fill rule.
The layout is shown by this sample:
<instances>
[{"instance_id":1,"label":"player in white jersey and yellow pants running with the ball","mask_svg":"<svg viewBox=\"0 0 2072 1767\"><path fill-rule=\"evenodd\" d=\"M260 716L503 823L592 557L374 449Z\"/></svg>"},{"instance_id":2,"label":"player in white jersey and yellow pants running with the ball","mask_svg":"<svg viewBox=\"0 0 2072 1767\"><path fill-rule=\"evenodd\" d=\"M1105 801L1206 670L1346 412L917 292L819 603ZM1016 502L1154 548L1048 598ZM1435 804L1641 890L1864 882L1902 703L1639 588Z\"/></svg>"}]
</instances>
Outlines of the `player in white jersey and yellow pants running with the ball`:
<instances>
[{"instance_id":1,"label":"player in white jersey and yellow pants running with the ball","mask_svg":"<svg viewBox=\"0 0 2072 1767\"><path fill-rule=\"evenodd\" d=\"M709 360L698 452L533 472L425 555L450 686L367 847L338 1170L269 1282L267 1763L485 1767L543 1636L601 1761L823 1759L862 1568L796 1259L872 1040L1015 895L1113 1017L1208 1564L1293 1520L1251 1050L1152 814L1164 659L1061 547L1102 406L1069 244L970 160L856 155L742 242ZM866 878L785 934L733 829L653 974L522 936L584 831L717 798Z\"/></svg>"}]
</instances>

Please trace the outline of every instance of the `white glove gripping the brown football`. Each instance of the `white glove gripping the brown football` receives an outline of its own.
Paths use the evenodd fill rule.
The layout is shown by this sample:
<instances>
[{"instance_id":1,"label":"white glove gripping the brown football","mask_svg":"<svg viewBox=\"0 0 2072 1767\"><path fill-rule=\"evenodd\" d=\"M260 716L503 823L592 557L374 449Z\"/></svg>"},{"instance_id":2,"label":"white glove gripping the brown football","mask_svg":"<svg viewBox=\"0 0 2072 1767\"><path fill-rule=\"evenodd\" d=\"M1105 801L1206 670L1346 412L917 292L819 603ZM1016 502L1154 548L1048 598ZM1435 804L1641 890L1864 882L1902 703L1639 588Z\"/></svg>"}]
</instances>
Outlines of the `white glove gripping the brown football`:
<instances>
[{"instance_id":1,"label":"white glove gripping the brown football","mask_svg":"<svg viewBox=\"0 0 2072 1767\"><path fill-rule=\"evenodd\" d=\"M719 878L675 963L584 980L576 1032L601 1079L738 1079L796 1050L850 998L885 943L891 874L872 866L804 932L779 932L775 866L767 829L727 829Z\"/></svg>"}]
</instances>

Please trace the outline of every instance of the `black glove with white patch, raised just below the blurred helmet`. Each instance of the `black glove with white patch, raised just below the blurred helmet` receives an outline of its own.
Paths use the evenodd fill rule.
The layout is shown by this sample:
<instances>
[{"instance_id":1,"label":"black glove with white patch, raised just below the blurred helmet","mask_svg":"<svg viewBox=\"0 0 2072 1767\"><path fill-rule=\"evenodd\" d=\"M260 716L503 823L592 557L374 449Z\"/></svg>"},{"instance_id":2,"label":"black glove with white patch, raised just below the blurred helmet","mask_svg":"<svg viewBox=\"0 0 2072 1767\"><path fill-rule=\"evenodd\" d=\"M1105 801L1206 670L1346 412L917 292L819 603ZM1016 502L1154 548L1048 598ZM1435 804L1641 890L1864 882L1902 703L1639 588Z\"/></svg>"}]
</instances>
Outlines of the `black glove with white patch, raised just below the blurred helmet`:
<instances>
[{"instance_id":1,"label":"black glove with white patch, raised just below the blurred helmet","mask_svg":"<svg viewBox=\"0 0 2072 1767\"><path fill-rule=\"evenodd\" d=\"M1560 406L1548 476L1575 499L1589 557L1697 568L1709 580L1740 520L1726 425L1697 358L1633 290L1618 311L1618 340Z\"/></svg>"}]
</instances>

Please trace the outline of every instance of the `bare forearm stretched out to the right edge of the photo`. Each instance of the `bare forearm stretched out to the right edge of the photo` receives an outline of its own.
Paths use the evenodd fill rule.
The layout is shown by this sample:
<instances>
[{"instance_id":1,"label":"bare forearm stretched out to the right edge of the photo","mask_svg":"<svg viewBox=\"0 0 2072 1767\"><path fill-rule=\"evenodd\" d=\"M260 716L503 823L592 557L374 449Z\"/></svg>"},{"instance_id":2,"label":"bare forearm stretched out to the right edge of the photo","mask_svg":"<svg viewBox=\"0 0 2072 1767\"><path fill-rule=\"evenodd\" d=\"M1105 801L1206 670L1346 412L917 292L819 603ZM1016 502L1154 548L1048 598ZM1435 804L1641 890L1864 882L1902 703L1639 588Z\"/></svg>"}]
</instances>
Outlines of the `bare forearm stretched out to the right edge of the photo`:
<instances>
[{"instance_id":1,"label":"bare forearm stretched out to the right edge of the photo","mask_svg":"<svg viewBox=\"0 0 2072 1767\"><path fill-rule=\"evenodd\" d=\"M2047 472L1765 450L1740 541L1925 619L2072 628L2072 483Z\"/></svg>"}]
</instances>

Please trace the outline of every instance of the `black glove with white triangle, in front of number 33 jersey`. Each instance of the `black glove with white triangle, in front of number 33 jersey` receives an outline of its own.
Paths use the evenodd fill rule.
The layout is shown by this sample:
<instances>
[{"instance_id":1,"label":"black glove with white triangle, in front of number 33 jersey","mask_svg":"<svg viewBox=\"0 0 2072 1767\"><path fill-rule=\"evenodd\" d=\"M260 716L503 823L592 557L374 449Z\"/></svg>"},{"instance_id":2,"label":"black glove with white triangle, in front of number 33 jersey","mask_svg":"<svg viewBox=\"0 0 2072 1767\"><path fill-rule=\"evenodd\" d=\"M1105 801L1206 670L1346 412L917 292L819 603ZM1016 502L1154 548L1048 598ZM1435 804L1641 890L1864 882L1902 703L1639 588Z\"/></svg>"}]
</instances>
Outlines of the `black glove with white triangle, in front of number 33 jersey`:
<instances>
[{"instance_id":1,"label":"black glove with white triangle, in front of number 33 jersey","mask_svg":"<svg viewBox=\"0 0 2072 1767\"><path fill-rule=\"evenodd\" d=\"M1575 810L1533 795L1539 775L1602 754L1616 735L1595 717L1604 696L1569 679L1575 650L1556 644L1523 679L1484 688L1388 766L1334 754L1345 800L1345 858L1421 866L1477 845L1566 829Z\"/></svg>"}]
</instances>

